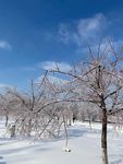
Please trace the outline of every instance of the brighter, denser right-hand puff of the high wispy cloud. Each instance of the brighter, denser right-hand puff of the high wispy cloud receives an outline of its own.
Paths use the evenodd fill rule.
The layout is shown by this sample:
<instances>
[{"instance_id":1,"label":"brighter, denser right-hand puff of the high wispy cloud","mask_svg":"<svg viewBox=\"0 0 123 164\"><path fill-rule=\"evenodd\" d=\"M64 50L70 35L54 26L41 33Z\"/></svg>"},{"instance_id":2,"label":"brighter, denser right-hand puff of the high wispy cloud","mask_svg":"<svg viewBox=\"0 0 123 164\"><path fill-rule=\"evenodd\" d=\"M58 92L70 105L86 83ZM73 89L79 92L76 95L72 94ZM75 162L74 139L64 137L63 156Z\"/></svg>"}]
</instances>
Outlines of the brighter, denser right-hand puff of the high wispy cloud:
<instances>
[{"instance_id":1,"label":"brighter, denser right-hand puff of the high wispy cloud","mask_svg":"<svg viewBox=\"0 0 123 164\"><path fill-rule=\"evenodd\" d=\"M106 17L102 14L79 20L76 26L77 31L74 33L74 38L77 45L81 46L83 42L96 42L97 38L99 39L107 26L106 22Z\"/></svg>"}]
</instances>

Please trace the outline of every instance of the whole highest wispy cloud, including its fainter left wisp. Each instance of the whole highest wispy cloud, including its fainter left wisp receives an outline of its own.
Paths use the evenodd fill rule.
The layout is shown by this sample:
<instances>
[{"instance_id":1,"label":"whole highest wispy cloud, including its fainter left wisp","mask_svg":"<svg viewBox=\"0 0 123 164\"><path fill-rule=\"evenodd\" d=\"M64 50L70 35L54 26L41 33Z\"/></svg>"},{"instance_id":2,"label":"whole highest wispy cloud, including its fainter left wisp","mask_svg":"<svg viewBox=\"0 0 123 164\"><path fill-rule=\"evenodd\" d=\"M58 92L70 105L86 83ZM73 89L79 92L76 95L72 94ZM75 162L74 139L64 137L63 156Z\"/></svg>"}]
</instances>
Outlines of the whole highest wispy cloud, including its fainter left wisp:
<instances>
[{"instance_id":1,"label":"whole highest wispy cloud, including its fainter left wisp","mask_svg":"<svg viewBox=\"0 0 123 164\"><path fill-rule=\"evenodd\" d=\"M99 13L91 17L81 19L59 26L58 38L64 44L74 43L78 47L84 43L97 42L108 26L107 17ZM91 42L91 43L93 43Z\"/></svg>"}]
</instances>

